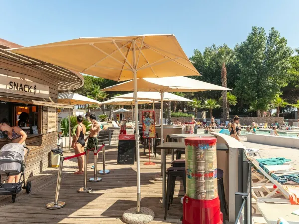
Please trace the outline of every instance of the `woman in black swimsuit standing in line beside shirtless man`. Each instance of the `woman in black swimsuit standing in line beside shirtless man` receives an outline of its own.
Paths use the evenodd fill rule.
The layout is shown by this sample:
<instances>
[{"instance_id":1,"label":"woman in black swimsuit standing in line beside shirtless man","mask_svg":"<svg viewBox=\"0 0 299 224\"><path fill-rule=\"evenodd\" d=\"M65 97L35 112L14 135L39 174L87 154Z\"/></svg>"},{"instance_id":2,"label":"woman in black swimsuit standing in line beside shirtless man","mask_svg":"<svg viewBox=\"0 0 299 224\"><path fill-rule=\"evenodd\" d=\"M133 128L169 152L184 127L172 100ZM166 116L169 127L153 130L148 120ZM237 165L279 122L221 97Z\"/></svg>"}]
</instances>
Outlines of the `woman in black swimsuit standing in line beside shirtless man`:
<instances>
[{"instance_id":1,"label":"woman in black swimsuit standing in line beside shirtless man","mask_svg":"<svg viewBox=\"0 0 299 224\"><path fill-rule=\"evenodd\" d=\"M86 132L86 127L82 123L83 117L81 115L77 116L77 123L78 127L76 129L76 136L74 136L73 143L72 143L72 148L75 149L75 154L80 154L84 152L84 146L85 146L85 141L84 141L84 135ZM79 170L75 172L75 174L83 174L83 156L78 156L78 166Z\"/></svg>"}]
</instances>

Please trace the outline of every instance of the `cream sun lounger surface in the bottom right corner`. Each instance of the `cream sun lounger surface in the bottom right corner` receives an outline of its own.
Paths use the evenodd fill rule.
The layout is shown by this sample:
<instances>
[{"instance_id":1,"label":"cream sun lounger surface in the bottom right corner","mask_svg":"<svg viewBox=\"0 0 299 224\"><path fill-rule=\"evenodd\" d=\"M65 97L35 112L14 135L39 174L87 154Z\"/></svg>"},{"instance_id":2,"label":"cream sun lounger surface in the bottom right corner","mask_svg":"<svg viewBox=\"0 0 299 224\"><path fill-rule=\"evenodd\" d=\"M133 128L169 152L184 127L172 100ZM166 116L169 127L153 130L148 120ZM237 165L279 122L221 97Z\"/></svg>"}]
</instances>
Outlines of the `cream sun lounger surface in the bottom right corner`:
<instances>
[{"instance_id":1,"label":"cream sun lounger surface in the bottom right corner","mask_svg":"<svg viewBox=\"0 0 299 224\"><path fill-rule=\"evenodd\" d=\"M292 214L299 205L257 203L257 206L269 224L276 224L279 218L284 218L289 224L299 224L299 216Z\"/></svg>"}]
</instances>

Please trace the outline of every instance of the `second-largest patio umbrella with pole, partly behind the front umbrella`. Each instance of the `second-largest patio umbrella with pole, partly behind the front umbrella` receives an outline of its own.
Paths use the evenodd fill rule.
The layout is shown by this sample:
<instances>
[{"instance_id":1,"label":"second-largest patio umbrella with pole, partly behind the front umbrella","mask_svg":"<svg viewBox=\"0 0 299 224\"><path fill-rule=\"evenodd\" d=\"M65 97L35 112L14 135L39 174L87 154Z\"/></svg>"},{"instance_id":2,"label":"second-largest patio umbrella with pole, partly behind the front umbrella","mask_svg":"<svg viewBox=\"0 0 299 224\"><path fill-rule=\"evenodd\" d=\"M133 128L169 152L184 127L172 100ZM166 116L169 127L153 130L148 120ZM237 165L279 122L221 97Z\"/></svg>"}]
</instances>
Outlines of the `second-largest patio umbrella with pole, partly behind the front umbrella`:
<instances>
[{"instance_id":1,"label":"second-largest patio umbrella with pole, partly behind the front umbrella","mask_svg":"<svg viewBox=\"0 0 299 224\"><path fill-rule=\"evenodd\" d=\"M231 90L222 86L206 83L203 81L187 78L187 77L165 77L165 78L139 78L136 81L140 91L158 91L161 98L161 121L163 120L163 98L166 91L180 91L180 92L197 92L207 90ZM107 88L105 91L133 91L133 80L116 84ZM126 94L125 94L126 95ZM150 94L147 94L150 96ZM118 96L120 97L120 96ZM127 96L128 97L128 96ZM149 98L145 98L149 99ZM163 139L163 122L161 122L161 139ZM163 175L163 202L166 200L166 161L165 150L162 155L162 175Z\"/></svg>"}]
</instances>

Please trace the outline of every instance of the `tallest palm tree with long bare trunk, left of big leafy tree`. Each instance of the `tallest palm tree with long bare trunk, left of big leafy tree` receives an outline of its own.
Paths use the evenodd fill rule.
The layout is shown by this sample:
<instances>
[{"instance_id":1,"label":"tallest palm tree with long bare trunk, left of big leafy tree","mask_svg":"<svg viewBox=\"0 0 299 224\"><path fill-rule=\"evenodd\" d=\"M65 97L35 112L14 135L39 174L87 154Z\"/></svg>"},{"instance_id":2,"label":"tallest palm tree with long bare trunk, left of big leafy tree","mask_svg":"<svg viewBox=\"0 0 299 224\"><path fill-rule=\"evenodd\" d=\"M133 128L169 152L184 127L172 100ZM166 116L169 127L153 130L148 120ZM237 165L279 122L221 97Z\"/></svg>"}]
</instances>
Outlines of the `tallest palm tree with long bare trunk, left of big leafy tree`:
<instances>
[{"instance_id":1,"label":"tallest palm tree with long bare trunk, left of big leafy tree","mask_svg":"<svg viewBox=\"0 0 299 224\"><path fill-rule=\"evenodd\" d=\"M216 51L215 59L221 67L221 83L223 87L227 87L226 64L234 60L234 52L227 45L219 47ZM222 90L222 118L229 118L229 111L227 108L226 90Z\"/></svg>"}]
</instances>

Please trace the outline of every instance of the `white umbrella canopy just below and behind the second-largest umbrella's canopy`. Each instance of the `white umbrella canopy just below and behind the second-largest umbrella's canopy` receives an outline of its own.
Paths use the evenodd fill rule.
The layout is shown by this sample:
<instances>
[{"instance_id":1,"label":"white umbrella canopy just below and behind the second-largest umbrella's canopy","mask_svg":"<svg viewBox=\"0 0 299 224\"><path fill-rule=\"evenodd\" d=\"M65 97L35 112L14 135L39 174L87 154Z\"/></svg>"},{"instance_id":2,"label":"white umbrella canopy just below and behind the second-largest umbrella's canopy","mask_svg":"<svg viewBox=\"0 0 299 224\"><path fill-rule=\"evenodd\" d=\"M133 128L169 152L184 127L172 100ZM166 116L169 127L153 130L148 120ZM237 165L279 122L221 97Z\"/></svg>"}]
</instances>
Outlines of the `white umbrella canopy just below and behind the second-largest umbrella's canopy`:
<instances>
[{"instance_id":1,"label":"white umbrella canopy just below and behind the second-largest umbrella's canopy","mask_svg":"<svg viewBox=\"0 0 299 224\"><path fill-rule=\"evenodd\" d=\"M107 87L107 88L109 88L109 87ZM139 101L140 100L160 100L161 99L161 93L160 92L141 92L141 91L138 91L137 92L137 96L138 96ZM116 99L114 97L112 97L112 98ZM124 99L124 98L134 99L134 93L128 93L128 94L119 95L119 96L117 96L117 98L119 98L119 99ZM192 100L190 100L188 98L177 96L175 94L168 93L168 92L164 93L163 99L165 101L186 101L186 102L193 102Z\"/></svg>"}]
</instances>

